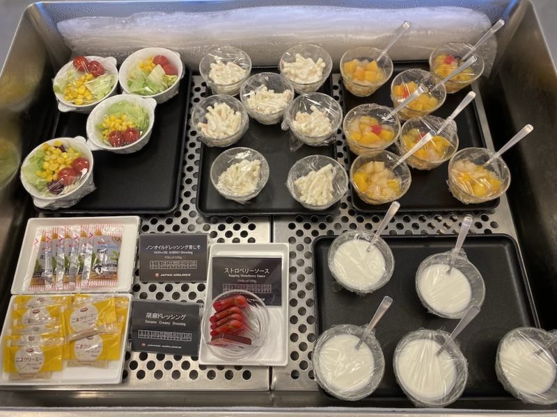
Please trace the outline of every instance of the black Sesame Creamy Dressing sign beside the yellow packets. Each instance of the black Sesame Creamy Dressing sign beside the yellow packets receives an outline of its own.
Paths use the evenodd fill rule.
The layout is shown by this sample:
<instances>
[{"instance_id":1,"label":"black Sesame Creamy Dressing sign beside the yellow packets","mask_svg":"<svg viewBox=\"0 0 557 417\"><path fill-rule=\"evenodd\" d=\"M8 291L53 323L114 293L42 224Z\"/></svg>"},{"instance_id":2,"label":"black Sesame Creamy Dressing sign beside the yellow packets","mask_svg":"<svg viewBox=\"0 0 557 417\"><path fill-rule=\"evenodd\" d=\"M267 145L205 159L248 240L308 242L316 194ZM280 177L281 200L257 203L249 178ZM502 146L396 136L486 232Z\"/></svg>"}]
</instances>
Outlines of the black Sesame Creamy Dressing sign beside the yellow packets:
<instances>
[{"instance_id":1,"label":"black Sesame Creamy Dressing sign beside the yellow packets","mask_svg":"<svg viewBox=\"0 0 557 417\"><path fill-rule=\"evenodd\" d=\"M201 304L165 301L132 303L132 350L197 356Z\"/></svg>"}]
</instances>

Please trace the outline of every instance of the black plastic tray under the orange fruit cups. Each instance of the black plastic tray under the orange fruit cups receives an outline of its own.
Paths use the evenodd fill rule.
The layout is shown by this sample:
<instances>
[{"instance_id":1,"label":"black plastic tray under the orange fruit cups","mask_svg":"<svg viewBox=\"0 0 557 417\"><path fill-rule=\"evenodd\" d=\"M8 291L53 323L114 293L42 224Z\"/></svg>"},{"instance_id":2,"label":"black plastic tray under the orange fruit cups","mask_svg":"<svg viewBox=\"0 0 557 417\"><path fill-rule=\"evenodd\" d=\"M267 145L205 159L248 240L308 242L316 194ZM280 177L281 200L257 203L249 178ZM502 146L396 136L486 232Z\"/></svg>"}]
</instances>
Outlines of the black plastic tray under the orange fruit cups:
<instances>
[{"instance_id":1,"label":"black plastic tray under the orange fruit cups","mask_svg":"<svg viewBox=\"0 0 557 417\"><path fill-rule=\"evenodd\" d=\"M389 82L384 83L384 85L370 95L370 97L356 97L343 87L344 114L352 110L352 108L359 106L359 104L377 103L392 107L391 81L393 81L394 77L400 74L400 72L409 70L410 68L428 70L429 67L427 63L424 62L395 63L393 76ZM443 106L432 114L439 117L448 117L470 90L470 88L464 88L454 94L448 94ZM480 122L478 120L475 104L466 106L464 111L456 117L455 122L458 126L458 149L465 147L485 147L485 140L480 129ZM401 124L402 123L403 121L401 120ZM398 150L394 145L387 150L398 154ZM349 165L352 165L354 159L356 159L356 155L352 154L349 150ZM400 212L492 210L499 205L499 198L483 204L463 204L455 199L455 197L450 194L447 185L448 161L430 171L415 170L414 168L410 168L410 170L412 174L412 183L408 192L398 200L398 202L400 202ZM351 195L354 208L361 213L384 213L387 208L389 208L389 204L373 206L363 202L360 197L358 197L353 187L351 187Z\"/></svg>"}]
</instances>

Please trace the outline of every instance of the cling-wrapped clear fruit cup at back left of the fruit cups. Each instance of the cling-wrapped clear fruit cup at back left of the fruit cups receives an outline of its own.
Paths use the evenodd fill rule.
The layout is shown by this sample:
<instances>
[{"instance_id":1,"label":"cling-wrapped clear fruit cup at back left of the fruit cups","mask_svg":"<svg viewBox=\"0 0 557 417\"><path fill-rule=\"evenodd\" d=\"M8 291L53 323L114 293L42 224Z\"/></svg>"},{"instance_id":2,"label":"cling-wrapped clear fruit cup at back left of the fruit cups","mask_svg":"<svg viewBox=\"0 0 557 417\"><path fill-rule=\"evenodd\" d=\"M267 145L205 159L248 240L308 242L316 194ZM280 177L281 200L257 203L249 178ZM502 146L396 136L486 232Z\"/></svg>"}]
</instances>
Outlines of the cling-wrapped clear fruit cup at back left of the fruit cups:
<instances>
[{"instance_id":1,"label":"cling-wrapped clear fruit cup at back left of the fruit cups","mask_svg":"<svg viewBox=\"0 0 557 417\"><path fill-rule=\"evenodd\" d=\"M380 54L377 48L357 47L346 51L340 58L343 85L353 95L372 95L393 75L393 61L387 54L378 60Z\"/></svg>"}]
</instances>

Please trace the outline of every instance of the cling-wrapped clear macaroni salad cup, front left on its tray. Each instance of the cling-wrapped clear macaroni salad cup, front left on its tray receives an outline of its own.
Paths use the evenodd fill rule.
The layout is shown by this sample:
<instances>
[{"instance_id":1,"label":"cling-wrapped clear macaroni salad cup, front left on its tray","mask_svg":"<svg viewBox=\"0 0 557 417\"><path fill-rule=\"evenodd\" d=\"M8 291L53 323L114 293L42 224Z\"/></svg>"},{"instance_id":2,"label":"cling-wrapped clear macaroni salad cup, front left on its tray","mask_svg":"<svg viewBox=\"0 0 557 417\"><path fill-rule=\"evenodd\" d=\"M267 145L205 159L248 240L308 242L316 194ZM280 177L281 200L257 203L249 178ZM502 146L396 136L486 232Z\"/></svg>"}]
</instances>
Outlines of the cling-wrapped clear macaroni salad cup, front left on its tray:
<instances>
[{"instance_id":1,"label":"cling-wrapped clear macaroni salad cup, front left on its tray","mask_svg":"<svg viewBox=\"0 0 557 417\"><path fill-rule=\"evenodd\" d=\"M251 182L253 166L250 163L252 161L259 161L259 174L255 184ZM246 165L242 166L244 163ZM230 172L227 179L221 178L223 173L233 165L236 168L235 172ZM242 174L246 175L246 177L241 177ZM240 175L240 177L235 178L235 175ZM236 181L233 181L233 179L236 179ZM247 147L227 149L217 156L211 164L212 185L224 198L234 200L235 202L244 203L249 199L257 197L268 180L269 164L267 159L255 149Z\"/></svg>"}]
</instances>

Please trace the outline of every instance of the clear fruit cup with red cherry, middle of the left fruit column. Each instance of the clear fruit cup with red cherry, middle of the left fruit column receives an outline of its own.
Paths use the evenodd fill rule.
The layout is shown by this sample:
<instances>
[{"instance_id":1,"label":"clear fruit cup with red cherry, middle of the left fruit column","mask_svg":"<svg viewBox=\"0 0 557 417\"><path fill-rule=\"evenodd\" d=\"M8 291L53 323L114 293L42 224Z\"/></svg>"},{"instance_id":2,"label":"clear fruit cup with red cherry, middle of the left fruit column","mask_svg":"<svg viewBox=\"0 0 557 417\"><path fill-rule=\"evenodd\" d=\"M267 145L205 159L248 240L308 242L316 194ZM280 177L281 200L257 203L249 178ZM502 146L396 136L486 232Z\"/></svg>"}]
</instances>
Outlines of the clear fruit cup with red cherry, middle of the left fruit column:
<instances>
[{"instance_id":1,"label":"clear fruit cup with red cherry, middle of the left fruit column","mask_svg":"<svg viewBox=\"0 0 557 417\"><path fill-rule=\"evenodd\" d=\"M360 104L346 113L343 132L346 143L356 155L386 149L397 140L400 120L397 115L383 120L393 109L379 104Z\"/></svg>"}]
</instances>

